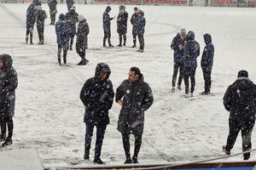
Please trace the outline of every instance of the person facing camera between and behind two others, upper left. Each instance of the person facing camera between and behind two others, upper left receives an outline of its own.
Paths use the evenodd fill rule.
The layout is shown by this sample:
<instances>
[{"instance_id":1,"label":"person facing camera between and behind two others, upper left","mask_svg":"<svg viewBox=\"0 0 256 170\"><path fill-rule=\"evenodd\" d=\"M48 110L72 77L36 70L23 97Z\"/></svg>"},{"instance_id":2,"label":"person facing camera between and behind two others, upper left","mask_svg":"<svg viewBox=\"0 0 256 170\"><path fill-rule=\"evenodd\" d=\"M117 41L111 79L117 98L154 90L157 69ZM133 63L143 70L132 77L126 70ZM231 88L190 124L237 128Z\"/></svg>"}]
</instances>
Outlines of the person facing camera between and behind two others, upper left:
<instances>
[{"instance_id":1,"label":"person facing camera between and behind two others, upper left","mask_svg":"<svg viewBox=\"0 0 256 170\"><path fill-rule=\"evenodd\" d=\"M69 49L73 50L73 38L76 35L76 24L79 22L79 14L76 13L76 8L72 6L70 8L70 11L66 14L66 20L67 20L67 26L69 28L69 37L70 37L70 43L69 43Z\"/></svg>"}]
</instances>

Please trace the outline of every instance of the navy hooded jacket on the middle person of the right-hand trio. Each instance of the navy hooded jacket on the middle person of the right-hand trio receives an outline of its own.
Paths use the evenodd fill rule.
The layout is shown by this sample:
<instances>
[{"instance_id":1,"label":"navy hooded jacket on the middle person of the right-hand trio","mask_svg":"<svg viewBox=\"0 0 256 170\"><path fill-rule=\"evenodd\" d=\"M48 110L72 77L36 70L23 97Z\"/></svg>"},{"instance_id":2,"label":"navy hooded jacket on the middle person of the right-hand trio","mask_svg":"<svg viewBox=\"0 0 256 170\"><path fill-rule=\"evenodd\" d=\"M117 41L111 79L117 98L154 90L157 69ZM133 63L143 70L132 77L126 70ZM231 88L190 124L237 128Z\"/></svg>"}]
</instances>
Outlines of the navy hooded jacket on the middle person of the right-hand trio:
<instances>
[{"instance_id":1,"label":"navy hooded jacket on the middle person of the right-hand trio","mask_svg":"<svg viewBox=\"0 0 256 170\"><path fill-rule=\"evenodd\" d=\"M184 69L195 69L197 67L197 57L200 54L200 45L195 41L194 31L189 31L187 34L187 42L184 47Z\"/></svg>"}]
</instances>

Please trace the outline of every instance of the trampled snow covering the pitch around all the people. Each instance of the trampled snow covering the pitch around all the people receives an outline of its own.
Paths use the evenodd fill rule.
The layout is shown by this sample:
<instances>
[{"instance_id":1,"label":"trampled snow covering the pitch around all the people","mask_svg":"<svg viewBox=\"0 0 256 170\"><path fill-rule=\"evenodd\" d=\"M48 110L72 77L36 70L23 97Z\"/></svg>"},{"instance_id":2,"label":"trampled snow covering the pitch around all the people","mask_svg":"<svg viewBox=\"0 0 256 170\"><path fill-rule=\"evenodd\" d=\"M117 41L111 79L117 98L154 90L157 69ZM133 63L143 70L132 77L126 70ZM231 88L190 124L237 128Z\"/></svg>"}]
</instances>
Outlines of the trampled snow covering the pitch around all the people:
<instances>
[{"instance_id":1,"label":"trampled snow covering the pitch around all the people","mask_svg":"<svg viewBox=\"0 0 256 170\"><path fill-rule=\"evenodd\" d=\"M79 55L68 51L71 66L57 65L55 28L45 21L45 45L25 44L26 8L29 4L0 4L0 53L10 54L19 76L16 93L14 144L3 150L36 149L44 166L92 165L83 161L84 106L79 99L83 83L93 77L96 64L106 62L112 73L114 90L127 78L131 66L137 66L154 92L154 105L145 113L140 163L179 163L201 161L224 156L221 150L228 135L229 113L222 98L226 88L236 80L237 72L246 69L256 82L255 43L256 10L254 8L200 8L172 6L138 6L147 20L145 52L137 53L132 45L131 24L128 22L127 47L102 48L102 13L107 5L77 4L90 26L90 63L77 66ZM49 8L43 4L49 14ZM66 4L58 4L58 14L66 13ZM112 5L111 16L118 14ZM133 5L127 5L129 20ZM58 15L57 15L58 16ZM195 40L205 46L203 34L210 33L215 45L212 70L212 96L201 96L203 77L197 59L195 97L184 99L184 90L171 93L172 38L181 28L195 31ZM112 21L112 42L118 44L116 22ZM74 46L73 46L74 48ZM101 48L102 50L95 50ZM123 164L125 154L121 134L116 130L120 107L113 104L109 112L102 146L102 160L108 165ZM131 138L133 153L133 138ZM255 129L252 136L256 144ZM90 159L94 157L95 136ZM241 152L239 136L232 153ZM224 161L241 161L242 156ZM256 153L251 160L256 159Z\"/></svg>"}]
</instances>

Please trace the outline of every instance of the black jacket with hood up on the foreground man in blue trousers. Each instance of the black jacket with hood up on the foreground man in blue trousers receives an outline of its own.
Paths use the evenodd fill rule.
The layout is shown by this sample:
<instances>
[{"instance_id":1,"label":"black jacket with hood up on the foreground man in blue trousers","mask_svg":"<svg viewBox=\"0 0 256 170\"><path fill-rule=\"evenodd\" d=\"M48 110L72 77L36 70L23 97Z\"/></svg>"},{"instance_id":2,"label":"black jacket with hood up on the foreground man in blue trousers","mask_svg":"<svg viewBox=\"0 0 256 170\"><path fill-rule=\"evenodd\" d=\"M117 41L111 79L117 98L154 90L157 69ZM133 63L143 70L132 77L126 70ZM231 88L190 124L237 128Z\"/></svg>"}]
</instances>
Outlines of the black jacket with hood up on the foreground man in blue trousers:
<instances>
[{"instance_id":1,"label":"black jacket with hood up on the foreground man in blue trousers","mask_svg":"<svg viewBox=\"0 0 256 170\"><path fill-rule=\"evenodd\" d=\"M107 71L108 76L102 80L101 71ZM84 122L93 125L108 124L108 110L113 105L113 85L108 79L111 71L105 63L96 65L95 76L89 78L80 93L80 99L85 106Z\"/></svg>"}]
</instances>

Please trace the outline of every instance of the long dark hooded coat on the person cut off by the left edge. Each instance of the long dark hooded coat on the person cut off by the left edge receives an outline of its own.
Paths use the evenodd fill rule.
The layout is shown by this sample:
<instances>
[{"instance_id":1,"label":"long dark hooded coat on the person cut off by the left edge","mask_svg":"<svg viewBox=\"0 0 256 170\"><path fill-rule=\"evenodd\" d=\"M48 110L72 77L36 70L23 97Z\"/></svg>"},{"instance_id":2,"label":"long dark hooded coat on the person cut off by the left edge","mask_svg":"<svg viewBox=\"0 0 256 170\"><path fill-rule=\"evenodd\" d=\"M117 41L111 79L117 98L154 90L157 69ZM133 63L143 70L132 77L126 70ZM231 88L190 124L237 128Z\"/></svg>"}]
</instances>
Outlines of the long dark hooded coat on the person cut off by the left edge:
<instances>
[{"instance_id":1,"label":"long dark hooded coat on the person cut off by the left edge","mask_svg":"<svg viewBox=\"0 0 256 170\"><path fill-rule=\"evenodd\" d=\"M15 115L15 89L18 86L18 77L13 67L13 59L9 54L0 55L3 60L3 69L0 69L0 118Z\"/></svg>"}]
</instances>

